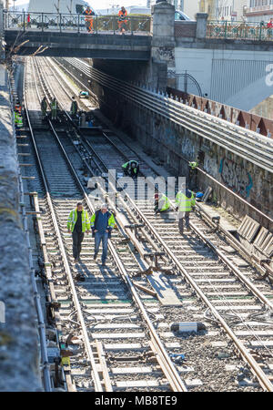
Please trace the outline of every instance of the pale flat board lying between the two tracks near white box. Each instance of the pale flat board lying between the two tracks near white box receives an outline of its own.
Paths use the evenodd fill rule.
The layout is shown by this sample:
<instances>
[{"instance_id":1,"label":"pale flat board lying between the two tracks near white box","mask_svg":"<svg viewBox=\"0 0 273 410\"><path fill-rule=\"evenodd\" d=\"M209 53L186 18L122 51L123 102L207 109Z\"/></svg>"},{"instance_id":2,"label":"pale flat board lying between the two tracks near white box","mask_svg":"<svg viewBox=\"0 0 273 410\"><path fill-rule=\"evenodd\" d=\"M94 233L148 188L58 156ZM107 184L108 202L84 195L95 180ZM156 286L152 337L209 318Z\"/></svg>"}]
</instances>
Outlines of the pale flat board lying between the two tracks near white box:
<instances>
[{"instance_id":1,"label":"pale flat board lying between the two tracks near white box","mask_svg":"<svg viewBox=\"0 0 273 410\"><path fill-rule=\"evenodd\" d=\"M157 292L157 299L163 306L181 306L182 303L177 298L176 293L172 289L167 276L160 272L153 272L147 276L153 289Z\"/></svg>"}]
</instances>

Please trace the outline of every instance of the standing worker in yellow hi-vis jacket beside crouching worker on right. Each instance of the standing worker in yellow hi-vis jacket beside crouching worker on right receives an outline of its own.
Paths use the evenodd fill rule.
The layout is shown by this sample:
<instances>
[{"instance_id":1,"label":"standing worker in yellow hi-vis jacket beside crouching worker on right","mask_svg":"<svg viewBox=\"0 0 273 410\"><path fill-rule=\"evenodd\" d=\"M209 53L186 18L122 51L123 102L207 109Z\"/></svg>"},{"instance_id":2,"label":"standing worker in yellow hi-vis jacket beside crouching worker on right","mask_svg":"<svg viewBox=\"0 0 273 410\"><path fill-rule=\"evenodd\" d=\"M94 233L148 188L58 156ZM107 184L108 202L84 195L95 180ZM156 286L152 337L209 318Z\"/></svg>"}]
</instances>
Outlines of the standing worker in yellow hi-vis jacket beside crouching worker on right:
<instances>
[{"instance_id":1,"label":"standing worker in yellow hi-vis jacket beside crouching worker on right","mask_svg":"<svg viewBox=\"0 0 273 410\"><path fill-rule=\"evenodd\" d=\"M181 185L181 190L177 192L176 204L178 210L178 228L181 235L184 233L184 220L187 231L189 230L189 214L196 206L195 194L186 189L186 184Z\"/></svg>"}]
</instances>

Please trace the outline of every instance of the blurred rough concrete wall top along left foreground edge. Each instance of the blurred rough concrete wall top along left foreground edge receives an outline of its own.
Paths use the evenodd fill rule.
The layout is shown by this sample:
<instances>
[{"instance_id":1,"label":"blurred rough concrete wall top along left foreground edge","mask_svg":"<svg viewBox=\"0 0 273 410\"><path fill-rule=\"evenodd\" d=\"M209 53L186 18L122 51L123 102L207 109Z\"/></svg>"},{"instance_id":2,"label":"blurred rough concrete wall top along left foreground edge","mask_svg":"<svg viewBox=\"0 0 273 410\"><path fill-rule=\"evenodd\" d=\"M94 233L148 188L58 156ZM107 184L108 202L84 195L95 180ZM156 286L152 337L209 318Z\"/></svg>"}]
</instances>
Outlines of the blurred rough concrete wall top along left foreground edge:
<instances>
[{"instance_id":1,"label":"blurred rough concrete wall top along left foreground edge","mask_svg":"<svg viewBox=\"0 0 273 410\"><path fill-rule=\"evenodd\" d=\"M18 166L5 67L0 66L0 391L41 389L35 306L19 214Z\"/></svg>"}]
</instances>

